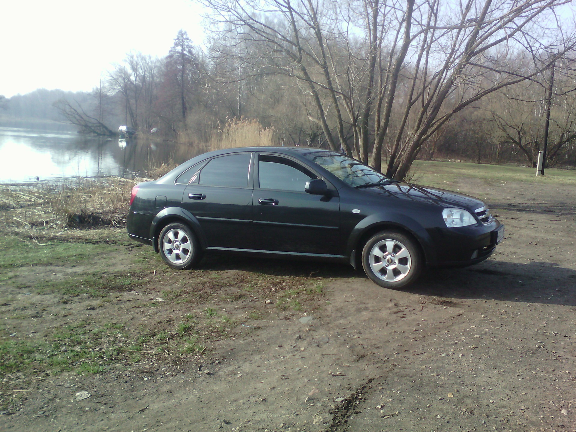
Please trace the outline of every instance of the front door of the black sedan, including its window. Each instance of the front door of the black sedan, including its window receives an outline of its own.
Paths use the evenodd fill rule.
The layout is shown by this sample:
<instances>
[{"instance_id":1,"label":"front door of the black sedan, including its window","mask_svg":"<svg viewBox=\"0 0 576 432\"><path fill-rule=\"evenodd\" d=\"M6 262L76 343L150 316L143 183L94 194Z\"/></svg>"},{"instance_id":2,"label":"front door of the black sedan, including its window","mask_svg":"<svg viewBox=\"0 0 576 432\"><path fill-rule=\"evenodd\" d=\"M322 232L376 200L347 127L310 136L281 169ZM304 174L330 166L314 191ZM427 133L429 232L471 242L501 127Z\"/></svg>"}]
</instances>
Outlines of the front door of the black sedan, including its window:
<instances>
[{"instance_id":1,"label":"front door of the black sedan, including its window","mask_svg":"<svg viewBox=\"0 0 576 432\"><path fill-rule=\"evenodd\" d=\"M253 193L255 249L342 255L338 192L307 194L306 182L319 178L297 160L260 153Z\"/></svg>"}]
</instances>

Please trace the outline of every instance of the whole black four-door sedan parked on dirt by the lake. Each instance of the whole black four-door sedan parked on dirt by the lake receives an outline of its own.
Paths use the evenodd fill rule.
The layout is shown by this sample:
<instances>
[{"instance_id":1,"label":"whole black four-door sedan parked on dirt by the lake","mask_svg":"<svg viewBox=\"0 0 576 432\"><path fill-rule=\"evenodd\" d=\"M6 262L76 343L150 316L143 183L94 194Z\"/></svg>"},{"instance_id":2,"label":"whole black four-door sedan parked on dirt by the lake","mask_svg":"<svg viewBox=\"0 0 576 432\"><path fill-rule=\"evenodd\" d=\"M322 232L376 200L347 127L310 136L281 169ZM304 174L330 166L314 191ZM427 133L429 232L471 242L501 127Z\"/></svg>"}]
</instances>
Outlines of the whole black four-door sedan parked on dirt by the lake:
<instances>
[{"instance_id":1,"label":"whole black four-door sedan parked on dirt by the lake","mask_svg":"<svg viewBox=\"0 0 576 432\"><path fill-rule=\"evenodd\" d=\"M334 151L244 147L196 156L132 189L128 235L173 268L204 251L362 265L387 288L487 259L504 226L479 199L401 183Z\"/></svg>"}]
</instances>

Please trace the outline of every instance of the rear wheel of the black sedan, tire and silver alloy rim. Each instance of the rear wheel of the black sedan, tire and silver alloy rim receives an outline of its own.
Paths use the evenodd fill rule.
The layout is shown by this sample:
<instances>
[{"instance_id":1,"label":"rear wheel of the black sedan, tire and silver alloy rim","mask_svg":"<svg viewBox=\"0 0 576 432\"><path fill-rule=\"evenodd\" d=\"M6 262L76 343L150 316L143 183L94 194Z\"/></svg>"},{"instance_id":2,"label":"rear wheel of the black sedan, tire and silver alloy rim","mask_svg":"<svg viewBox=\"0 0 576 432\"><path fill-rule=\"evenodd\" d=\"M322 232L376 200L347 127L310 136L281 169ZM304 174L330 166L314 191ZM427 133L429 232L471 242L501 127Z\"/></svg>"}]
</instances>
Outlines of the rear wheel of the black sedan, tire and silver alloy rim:
<instances>
[{"instance_id":1,"label":"rear wheel of the black sedan, tire and silver alloy rim","mask_svg":"<svg viewBox=\"0 0 576 432\"><path fill-rule=\"evenodd\" d=\"M192 230L184 223L169 223L158 236L158 251L166 264L180 270L202 259L202 249Z\"/></svg>"}]
</instances>

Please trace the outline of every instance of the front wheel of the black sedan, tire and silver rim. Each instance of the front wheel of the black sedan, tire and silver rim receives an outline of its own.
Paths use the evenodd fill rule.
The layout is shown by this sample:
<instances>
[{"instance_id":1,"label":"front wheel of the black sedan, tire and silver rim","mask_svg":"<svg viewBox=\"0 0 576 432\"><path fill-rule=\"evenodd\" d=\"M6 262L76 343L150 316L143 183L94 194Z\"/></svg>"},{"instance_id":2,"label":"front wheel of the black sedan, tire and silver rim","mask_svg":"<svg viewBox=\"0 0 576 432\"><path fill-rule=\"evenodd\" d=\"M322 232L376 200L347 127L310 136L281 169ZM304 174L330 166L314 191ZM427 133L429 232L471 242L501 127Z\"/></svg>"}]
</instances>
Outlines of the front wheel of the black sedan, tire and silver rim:
<instances>
[{"instance_id":1,"label":"front wheel of the black sedan, tire and silver rim","mask_svg":"<svg viewBox=\"0 0 576 432\"><path fill-rule=\"evenodd\" d=\"M366 276L384 288L399 289L415 282L423 260L418 245L406 234L382 231L374 234L362 249Z\"/></svg>"}]
</instances>

